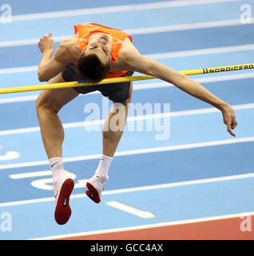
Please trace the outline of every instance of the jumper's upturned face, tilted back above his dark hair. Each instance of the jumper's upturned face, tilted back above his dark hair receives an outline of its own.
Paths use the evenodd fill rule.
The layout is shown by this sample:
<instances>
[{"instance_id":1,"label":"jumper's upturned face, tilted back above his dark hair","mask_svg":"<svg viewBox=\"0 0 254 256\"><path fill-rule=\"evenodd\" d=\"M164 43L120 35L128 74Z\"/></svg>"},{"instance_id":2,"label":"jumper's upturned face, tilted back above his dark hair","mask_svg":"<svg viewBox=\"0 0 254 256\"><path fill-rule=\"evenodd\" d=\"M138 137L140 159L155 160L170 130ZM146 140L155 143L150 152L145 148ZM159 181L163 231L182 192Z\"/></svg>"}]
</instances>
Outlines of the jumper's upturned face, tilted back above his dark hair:
<instances>
[{"instance_id":1,"label":"jumper's upturned face, tilted back above his dark hair","mask_svg":"<svg viewBox=\"0 0 254 256\"><path fill-rule=\"evenodd\" d=\"M109 34L91 34L83 52L85 52L85 54L97 54L101 62L107 64L111 62L112 42L113 39Z\"/></svg>"}]
</instances>

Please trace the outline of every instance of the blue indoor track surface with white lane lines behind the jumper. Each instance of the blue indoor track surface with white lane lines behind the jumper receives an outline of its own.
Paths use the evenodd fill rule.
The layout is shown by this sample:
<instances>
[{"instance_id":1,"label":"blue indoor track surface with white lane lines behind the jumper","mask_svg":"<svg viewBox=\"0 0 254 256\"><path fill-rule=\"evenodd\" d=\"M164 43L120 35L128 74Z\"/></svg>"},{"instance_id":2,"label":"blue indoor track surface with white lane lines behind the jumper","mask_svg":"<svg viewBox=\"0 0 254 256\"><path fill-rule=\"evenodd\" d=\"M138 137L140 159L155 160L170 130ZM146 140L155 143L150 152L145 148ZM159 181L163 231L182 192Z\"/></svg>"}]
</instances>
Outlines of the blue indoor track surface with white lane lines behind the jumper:
<instances>
[{"instance_id":1,"label":"blue indoor track surface with white lane lines behind the jumper","mask_svg":"<svg viewBox=\"0 0 254 256\"><path fill-rule=\"evenodd\" d=\"M175 70L253 62L254 19L242 21L240 9L253 10L251 0L0 0L0 7L4 4L13 16L10 23L0 22L0 88L40 84L39 38L51 32L56 49L82 22L127 31L141 54ZM109 110L112 103L93 93L62 108L65 170L75 181L73 214L64 226L54 221L52 176L35 110L40 91L0 94L0 239L55 238L254 212L254 71L191 78L235 109L236 138L207 103L159 79L134 82L133 107L161 103L165 113L142 121L145 111L137 115L130 109L98 205L85 196L85 184L100 158L103 122L91 124L85 106L97 104L97 119L103 120L108 112L102 106ZM170 129L163 134L155 121ZM152 131L144 131L148 122ZM138 125L144 129L128 130ZM114 201L154 216L141 218L109 206ZM4 228L4 213L10 213L10 230Z\"/></svg>"}]
</instances>

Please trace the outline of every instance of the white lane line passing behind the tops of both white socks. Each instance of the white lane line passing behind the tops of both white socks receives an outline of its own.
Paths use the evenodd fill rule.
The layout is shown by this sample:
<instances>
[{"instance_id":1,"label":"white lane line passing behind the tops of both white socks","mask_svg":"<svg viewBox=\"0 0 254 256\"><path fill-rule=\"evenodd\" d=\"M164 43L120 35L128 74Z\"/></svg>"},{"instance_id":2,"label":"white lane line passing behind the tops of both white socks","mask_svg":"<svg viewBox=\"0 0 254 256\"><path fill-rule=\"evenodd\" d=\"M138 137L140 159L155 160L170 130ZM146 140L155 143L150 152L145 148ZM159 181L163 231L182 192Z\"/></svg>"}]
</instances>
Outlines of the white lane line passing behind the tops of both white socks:
<instances>
[{"instance_id":1,"label":"white lane line passing behind the tops of both white socks","mask_svg":"<svg viewBox=\"0 0 254 256\"><path fill-rule=\"evenodd\" d=\"M157 152L172 151L172 150L187 150L187 149L194 149L194 148L207 147L207 146L221 146L221 145L229 145L229 144L242 143L242 142L254 142L254 137L231 138L231 139L224 139L224 140L212 141L212 142L196 142L196 143L190 143L190 144L162 146L162 147L155 147L155 148L148 148L148 149L141 149L141 150L118 151L116 152L115 157L133 155L133 154L149 154L149 153L157 153ZM91 159L98 159L100 157L101 157L101 154L90 154L90 155L85 155L80 157L64 158L63 162L85 161L85 160L91 160ZM37 161L37 162L22 162L22 163L0 165L0 170L9 170L14 168L43 166L43 165L49 165L49 161L44 160L44 161Z\"/></svg>"}]
</instances>

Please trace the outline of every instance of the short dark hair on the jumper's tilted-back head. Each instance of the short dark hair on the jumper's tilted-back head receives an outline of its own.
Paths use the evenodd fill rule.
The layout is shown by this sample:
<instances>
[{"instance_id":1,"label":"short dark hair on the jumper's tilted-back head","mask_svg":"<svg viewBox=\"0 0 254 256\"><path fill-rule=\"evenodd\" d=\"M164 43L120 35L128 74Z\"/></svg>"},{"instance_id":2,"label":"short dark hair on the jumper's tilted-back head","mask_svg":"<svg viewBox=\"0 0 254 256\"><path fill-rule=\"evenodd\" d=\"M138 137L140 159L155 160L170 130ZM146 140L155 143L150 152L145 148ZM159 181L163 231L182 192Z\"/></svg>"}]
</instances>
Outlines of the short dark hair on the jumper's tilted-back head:
<instances>
[{"instance_id":1,"label":"short dark hair on the jumper's tilted-back head","mask_svg":"<svg viewBox=\"0 0 254 256\"><path fill-rule=\"evenodd\" d=\"M100 82L109 73L110 63L103 64L96 54L81 53L77 68L89 82Z\"/></svg>"}]
</instances>

